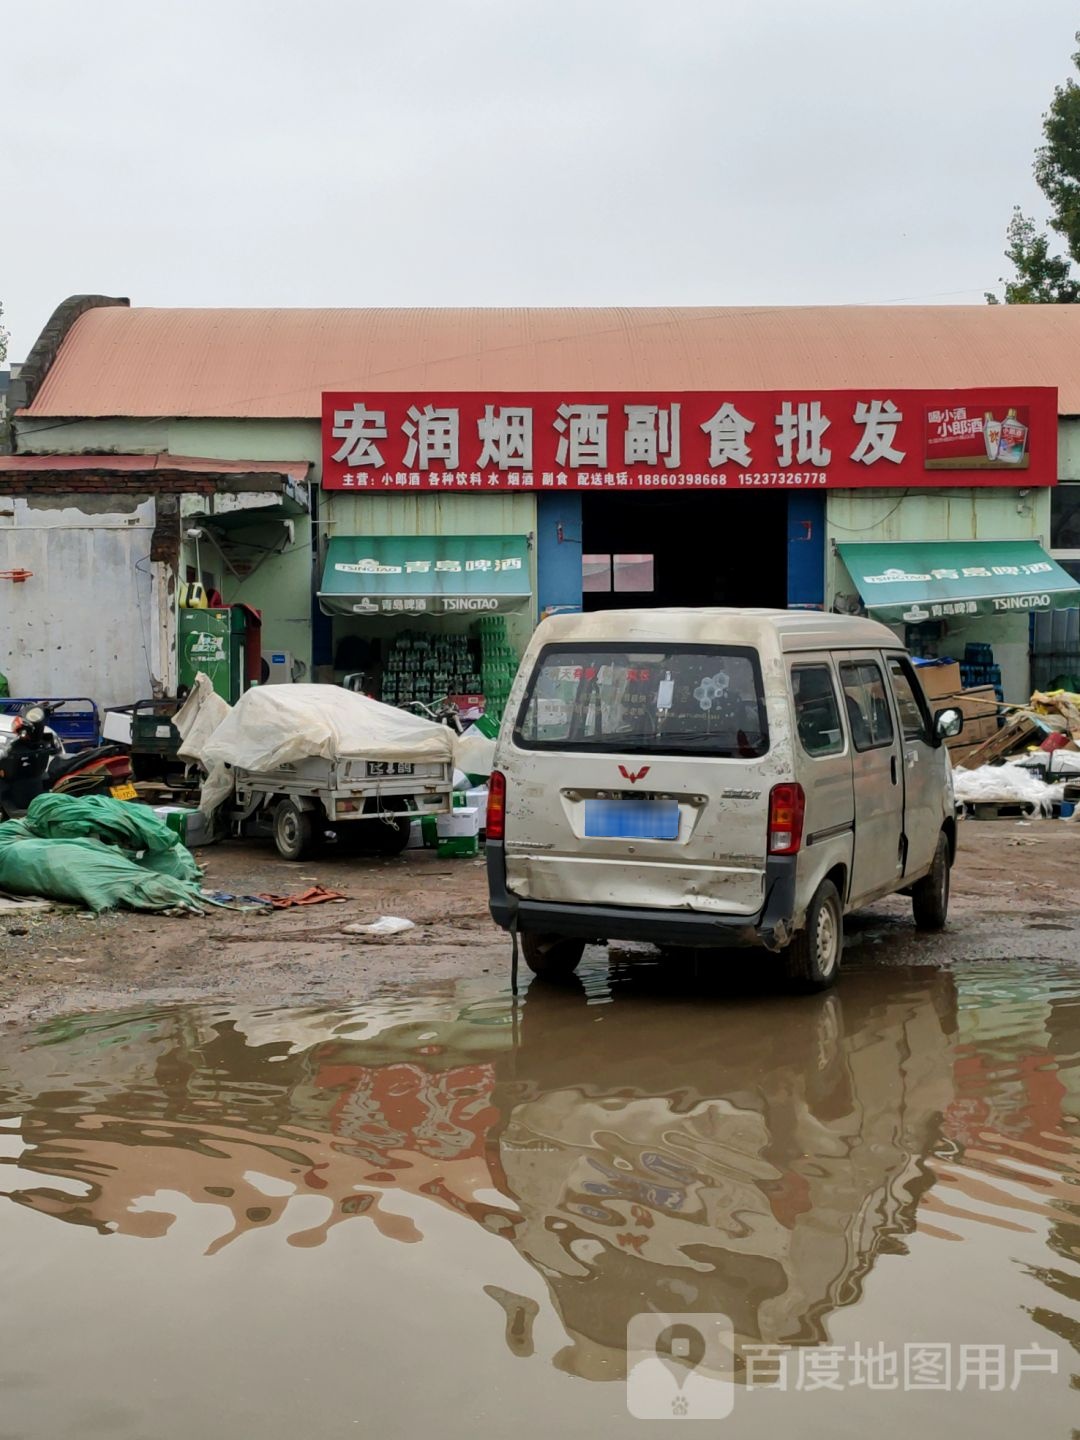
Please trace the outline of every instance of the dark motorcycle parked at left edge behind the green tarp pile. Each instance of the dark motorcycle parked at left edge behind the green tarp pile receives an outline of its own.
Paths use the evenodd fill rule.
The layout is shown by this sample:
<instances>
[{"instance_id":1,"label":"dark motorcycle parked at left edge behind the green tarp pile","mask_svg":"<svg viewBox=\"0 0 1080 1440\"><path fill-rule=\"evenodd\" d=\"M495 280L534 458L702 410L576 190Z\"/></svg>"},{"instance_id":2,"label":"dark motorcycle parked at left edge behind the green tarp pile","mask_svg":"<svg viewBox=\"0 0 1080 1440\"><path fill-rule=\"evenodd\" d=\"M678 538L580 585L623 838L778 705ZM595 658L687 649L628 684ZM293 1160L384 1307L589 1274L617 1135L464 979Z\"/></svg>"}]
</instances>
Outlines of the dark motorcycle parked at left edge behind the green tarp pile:
<instances>
[{"instance_id":1,"label":"dark motorcycle parked at left edge behind the green tarp pile","mask_svg":"<svg viewBox=\"0 0 1080 1440\"><path fill-rule=\"evenodd\" d=\"M24 815L46 791L134 799L128 753L118 744L98 744L68 755L49 729L52 708L24 706L0 729L0 818Z\"/></svg>"}]
</instances>

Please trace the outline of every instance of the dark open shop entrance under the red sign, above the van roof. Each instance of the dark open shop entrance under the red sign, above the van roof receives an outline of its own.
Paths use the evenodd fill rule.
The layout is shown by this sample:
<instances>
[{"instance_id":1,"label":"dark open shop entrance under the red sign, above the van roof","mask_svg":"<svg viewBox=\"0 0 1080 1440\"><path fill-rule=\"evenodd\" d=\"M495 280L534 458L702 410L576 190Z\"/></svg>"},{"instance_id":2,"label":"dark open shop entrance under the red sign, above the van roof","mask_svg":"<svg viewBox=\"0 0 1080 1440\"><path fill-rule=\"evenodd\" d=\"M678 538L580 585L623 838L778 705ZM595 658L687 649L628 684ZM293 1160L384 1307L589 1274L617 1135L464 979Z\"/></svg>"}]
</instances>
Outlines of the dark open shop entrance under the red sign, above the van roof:
<instances>
[{"instance_id":1,"label":"dark open shop entrance under the red sign, above the van roof","mask_svg":"<svg viewBox=\"0 0 1080 1440\"><path fill-rule=\"evenodd\" d=\"M783 491L582 495L582 608L788 605Z\"/></svg>"}]
</instances>

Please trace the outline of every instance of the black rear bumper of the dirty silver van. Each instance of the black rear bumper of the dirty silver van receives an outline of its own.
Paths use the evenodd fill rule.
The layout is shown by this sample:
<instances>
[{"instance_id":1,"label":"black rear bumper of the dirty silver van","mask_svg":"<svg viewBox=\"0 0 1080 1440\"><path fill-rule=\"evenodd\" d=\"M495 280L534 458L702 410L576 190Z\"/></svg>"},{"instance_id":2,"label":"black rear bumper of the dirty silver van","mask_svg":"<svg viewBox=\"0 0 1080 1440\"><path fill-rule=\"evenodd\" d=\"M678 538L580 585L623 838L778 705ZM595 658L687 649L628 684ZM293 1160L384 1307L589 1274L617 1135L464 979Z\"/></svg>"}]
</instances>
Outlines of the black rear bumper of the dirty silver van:
<instances>
[{"instance_id":1,"label":"black rear bumper of the dirty silver van","mask_svg":"<svg viewBox=\"0 0 1080 1440\"><path fill-rule=\"evenodd\" d=\"M780 950L792 937L795 855L776 855L765 870L765 904L756 916L660 910L644 906L560 904L521 900L507 890L505 851L488 841L488 909L504 930L569 935L586 940L645 940L651 945L763 945Z\"/></svg>"}]
</instances>

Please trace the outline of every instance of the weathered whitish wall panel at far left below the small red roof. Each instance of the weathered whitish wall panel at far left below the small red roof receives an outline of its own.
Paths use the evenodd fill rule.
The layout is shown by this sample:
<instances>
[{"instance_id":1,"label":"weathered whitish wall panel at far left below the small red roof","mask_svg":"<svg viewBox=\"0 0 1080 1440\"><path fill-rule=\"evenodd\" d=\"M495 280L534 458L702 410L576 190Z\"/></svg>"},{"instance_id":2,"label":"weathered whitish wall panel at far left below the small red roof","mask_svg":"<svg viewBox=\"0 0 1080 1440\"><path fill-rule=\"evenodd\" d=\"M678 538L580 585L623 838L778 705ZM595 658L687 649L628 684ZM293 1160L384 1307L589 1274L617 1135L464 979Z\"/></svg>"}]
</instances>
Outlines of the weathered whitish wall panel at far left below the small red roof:
<instances>
[{"instance_id":1,"label":"weathered whitish wall panel at far left below the small red roof","mask_svg":"<svg viewBox=\"0 0 1080 1440\"><path fill-rule=\"evenodd\" d=\"M66 497L73 501L75 497ZM13 696L88 696L128 704L168 684L150 563L154 501L81 505L0 497L0 670Z\"/></svg>"}]
</instances>

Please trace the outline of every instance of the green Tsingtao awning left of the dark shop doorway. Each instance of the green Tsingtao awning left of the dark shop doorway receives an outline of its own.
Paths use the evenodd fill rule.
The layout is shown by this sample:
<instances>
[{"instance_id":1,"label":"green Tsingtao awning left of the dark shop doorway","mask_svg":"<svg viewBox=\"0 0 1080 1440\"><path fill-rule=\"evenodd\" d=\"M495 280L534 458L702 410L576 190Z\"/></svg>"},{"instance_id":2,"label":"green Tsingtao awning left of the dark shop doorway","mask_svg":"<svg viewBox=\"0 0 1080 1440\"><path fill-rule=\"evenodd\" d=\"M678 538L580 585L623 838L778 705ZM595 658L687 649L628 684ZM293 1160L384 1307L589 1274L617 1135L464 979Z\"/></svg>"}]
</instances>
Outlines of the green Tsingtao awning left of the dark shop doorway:
<instances>
[{"instance_id":1,"label":"green Tsingtao awning left of the dark shop doorway","mask_svg":"<svg viewBox=\"0 0 1080 1440\"><path fill-rule=\"evenodd\" d=\"M531 596L527 536L338 536L325 615L491 615Z\"/></svg>"}]
</instances>

